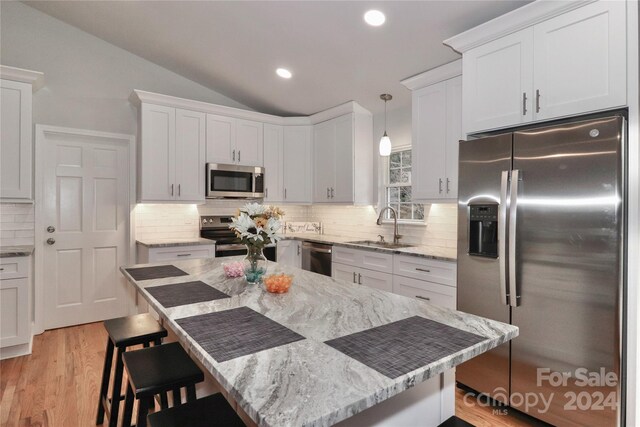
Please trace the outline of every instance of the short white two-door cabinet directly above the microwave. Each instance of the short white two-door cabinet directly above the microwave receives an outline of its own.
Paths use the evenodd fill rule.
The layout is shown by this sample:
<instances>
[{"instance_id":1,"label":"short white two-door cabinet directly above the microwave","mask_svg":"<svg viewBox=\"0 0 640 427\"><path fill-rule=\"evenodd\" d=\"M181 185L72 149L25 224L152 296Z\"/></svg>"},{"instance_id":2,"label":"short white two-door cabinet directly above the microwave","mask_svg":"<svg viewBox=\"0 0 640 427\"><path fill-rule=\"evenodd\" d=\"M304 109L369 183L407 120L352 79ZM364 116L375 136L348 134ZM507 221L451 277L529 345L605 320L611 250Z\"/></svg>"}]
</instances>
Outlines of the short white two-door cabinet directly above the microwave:
<instances>
[{"instance_id":1,"label":"short white two-door cabinet directly above the microwave","mask_svg":"<svg viewBox=\"0 0 640 427\"><path fill-rule=\"evenodd\" d=\"M263 166L263 124L207 114L207 163Z\"/></svg>"}]
</instances>

